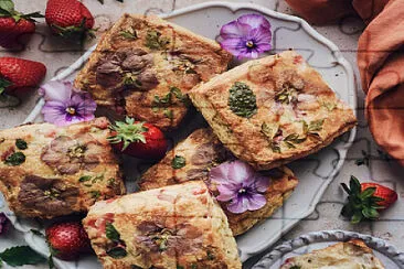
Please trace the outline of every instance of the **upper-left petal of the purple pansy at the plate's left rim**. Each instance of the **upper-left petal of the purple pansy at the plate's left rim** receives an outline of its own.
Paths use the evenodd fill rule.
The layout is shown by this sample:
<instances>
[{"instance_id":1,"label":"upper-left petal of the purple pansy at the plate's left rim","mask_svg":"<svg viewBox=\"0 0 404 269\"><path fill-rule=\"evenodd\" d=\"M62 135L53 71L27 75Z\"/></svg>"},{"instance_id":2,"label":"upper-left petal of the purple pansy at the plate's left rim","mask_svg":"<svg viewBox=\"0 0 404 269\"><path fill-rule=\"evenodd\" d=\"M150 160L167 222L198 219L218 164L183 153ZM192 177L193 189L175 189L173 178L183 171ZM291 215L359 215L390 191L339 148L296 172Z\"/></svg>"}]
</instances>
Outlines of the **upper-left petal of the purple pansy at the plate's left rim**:
<instances>
[{"instance_id":1,"label":"upper-left petal of the purple pansy at the plate's left rim","mask_svg":"<svg viewBox=\"0 0 404 269\"><path fill-rule=\"evenodd\" d=\"M40 95L43 95L46 100L67 101L72 96L72 83L51 80L40 88Z\"/></svg>"}]
</instances>

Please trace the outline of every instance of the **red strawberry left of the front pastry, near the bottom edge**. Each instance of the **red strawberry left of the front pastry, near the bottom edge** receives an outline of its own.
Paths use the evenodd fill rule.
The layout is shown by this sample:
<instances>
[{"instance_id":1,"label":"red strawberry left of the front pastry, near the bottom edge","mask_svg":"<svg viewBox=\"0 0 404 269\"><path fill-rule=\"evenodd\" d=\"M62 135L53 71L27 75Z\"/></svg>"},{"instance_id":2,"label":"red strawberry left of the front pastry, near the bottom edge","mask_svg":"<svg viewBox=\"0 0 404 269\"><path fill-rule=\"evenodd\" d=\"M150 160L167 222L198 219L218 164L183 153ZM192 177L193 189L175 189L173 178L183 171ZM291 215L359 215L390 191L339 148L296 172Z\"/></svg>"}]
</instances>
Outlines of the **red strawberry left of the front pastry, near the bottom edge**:
<instances>
[{"instance_id":1,"label":"red strawberry left of the front pastry, near the bottom edge","mask_svg":"<svg viewBox=\"0 0 404 269\"><path fill-rule=\"evenodd\" d=\"M91 250L89 239L78 222L59 223L46 228L51 254L63 260L72 260Z\"/></svg>"}]
</instances>

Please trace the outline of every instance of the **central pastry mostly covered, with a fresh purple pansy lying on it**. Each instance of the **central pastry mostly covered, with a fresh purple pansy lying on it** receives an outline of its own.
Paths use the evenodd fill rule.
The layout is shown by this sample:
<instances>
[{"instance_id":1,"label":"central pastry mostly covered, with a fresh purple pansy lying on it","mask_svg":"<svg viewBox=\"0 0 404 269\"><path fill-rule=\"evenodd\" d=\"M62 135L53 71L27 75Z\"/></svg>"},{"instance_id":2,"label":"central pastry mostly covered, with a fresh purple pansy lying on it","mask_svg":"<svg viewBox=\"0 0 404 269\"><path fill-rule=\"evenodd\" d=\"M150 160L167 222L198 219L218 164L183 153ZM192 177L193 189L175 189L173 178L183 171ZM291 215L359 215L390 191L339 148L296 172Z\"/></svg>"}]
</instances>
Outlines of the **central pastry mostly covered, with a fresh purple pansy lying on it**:
<instances>
[{"instance_id":1,"label":"central pastry mostly covered, with a fresh purple pansy lying on it","mask_svg":"<svg viewBox=\"0 0 404 269\"><path fill-rule=\"evenodd\" d=\"M140 190L150 190L202 180L216 195L219 194L216 187L209 183L209 170L232 158L232 154L210 128L198 129L168 152L158 164L146 171L141 176L139 186ZM267 203L261 209L234 214L226 209L227 203L220 202L227 215L228 225L234 236L247 232L255 224L273 215L298 184L294 173L286 166L268 171L266 175L270 177L270 184L264 194Z\"/></svg>"}]
</instances>

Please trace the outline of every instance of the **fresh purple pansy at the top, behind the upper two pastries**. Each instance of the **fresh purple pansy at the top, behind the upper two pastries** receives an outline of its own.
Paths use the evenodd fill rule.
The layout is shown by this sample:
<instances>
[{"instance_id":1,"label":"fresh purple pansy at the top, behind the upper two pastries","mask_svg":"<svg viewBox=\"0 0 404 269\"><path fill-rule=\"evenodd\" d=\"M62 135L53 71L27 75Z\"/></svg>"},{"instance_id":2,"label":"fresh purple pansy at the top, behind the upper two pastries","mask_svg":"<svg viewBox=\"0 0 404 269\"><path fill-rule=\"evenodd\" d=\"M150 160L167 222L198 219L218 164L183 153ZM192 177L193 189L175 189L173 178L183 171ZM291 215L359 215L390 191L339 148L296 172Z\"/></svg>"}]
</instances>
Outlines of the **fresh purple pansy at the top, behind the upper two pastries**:
<instances>
[{"instance_id":1,"label":"fresh purple pansy at the top, behind the upper two pastries","mask_svg":"<svg viewBox=\"0 0 404 269\"><path fill-rule=\"evenodd\" d=\"M245 14L221 29L221 46L237 58L257 58L272 49L270 24L259 14Z\"/></svg>"}]
</instances>

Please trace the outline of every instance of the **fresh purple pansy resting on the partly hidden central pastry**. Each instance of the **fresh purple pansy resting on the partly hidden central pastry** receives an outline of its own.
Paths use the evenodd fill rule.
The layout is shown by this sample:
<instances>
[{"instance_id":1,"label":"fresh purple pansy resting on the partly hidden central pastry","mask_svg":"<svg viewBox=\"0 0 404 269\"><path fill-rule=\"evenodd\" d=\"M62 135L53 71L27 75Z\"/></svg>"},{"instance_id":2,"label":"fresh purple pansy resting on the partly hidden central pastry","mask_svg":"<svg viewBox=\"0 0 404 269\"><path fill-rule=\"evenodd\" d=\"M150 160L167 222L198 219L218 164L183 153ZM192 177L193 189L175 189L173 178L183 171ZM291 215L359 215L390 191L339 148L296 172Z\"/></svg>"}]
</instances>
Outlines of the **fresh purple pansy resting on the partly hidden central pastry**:
<instances>
[{"instance_id":1,"label":"fresh purple pansy resting on the partly hidden central pastry","mask_svg":"<svg viewBox=\"0 0 404 269\"><path fill-rule=\"evenodd\" d=\"M213 168L210 181L217 185L217 200L230 202L227 209L232 213L257 211L266 204L265 193L269 179L255 172L242 161L228 161Z\"/></svg>"}]
</instances>

